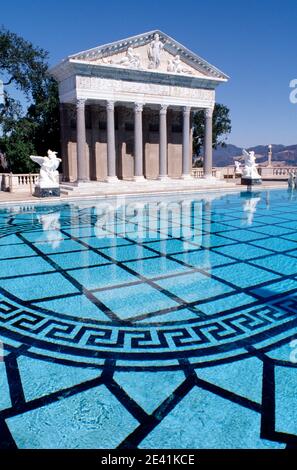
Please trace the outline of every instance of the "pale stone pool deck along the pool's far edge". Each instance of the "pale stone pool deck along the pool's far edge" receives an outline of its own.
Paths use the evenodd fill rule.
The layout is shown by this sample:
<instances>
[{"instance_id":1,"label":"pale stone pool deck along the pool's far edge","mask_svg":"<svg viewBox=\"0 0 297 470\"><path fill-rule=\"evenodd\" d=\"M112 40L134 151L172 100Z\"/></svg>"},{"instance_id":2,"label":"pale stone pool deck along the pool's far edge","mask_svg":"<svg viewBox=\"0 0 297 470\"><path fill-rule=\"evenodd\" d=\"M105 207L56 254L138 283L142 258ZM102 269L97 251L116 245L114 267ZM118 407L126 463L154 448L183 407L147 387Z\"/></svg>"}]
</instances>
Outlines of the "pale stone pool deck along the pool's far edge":
<instances>
[{"instance_id":1,"label":"pale stone pool deck along the pool's far edge","mask_svg":"<svg viewBox=\"0 0 297 470\"><path fill-rule=\"evenodd\" d=\"M287 181L263 181L261 186L255 186L255 190L266 189L285 189ZM60 197L55 198L37 198L32 196L30 192L4 192L0 191L0 204L11 204L14 202L48 202L48 201L67 201L73 199L89 199L107 198L112 196L135 196L146 194L182 194L187 192L218 192L218 191L242 191L247 188L241 185L239 181L222 181L208 182L206 180L168 180L168 181L154 181L145 180L143 182L134 181L118 181L117 183L86 183L80 187L74 187L67 184L62 185Z\"/></svg>"}]
</instances>

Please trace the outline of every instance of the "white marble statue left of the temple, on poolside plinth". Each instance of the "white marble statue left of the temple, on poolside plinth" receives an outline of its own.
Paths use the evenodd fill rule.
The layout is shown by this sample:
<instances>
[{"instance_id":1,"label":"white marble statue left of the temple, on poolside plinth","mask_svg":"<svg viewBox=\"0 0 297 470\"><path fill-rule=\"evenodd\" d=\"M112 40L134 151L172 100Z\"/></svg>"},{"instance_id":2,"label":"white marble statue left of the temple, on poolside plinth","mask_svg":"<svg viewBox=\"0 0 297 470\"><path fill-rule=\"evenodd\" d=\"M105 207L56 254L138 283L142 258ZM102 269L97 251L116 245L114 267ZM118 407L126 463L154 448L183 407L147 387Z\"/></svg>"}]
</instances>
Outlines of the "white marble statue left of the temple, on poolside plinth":
<instances>
[{"instance_id":1,"label":"white marble statue left of the temple, on poolside plinth","mask_svg":"<svg viewBox=\"0 0 297 470\"><path fill-rule=\"evenodd\" d=\"M58 167L61 158L57 157L57 152L52 150L47 151L47 157L39 157L30 155L33 162L40 165L39 180L37 186L40 188L58 188L59 187L59 172Z\"/></svg>"}]
</instances>

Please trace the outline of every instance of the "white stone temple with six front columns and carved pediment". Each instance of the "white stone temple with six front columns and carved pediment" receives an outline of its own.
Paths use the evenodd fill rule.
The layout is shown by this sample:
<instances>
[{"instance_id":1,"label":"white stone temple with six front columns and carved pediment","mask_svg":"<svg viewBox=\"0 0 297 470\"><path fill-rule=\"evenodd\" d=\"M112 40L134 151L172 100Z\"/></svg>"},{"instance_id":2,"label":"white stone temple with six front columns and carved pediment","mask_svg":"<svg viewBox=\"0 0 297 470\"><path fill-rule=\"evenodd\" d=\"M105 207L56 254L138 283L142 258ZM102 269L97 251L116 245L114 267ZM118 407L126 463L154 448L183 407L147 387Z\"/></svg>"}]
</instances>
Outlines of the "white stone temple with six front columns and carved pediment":
<instances>
[{"instance_id":1,"label":"white stone temple with six front columns and carved pediment","mask_svg":"<svg viewBox=\"0 0 297 470\"><path fill-rule=\"evenodd\" d=\"M211 176L215 89L228 77L168 35L152 31L80 52L51 74L65 181L189 178L192 118L201 109Z\"/></svg>"}]
</instances>

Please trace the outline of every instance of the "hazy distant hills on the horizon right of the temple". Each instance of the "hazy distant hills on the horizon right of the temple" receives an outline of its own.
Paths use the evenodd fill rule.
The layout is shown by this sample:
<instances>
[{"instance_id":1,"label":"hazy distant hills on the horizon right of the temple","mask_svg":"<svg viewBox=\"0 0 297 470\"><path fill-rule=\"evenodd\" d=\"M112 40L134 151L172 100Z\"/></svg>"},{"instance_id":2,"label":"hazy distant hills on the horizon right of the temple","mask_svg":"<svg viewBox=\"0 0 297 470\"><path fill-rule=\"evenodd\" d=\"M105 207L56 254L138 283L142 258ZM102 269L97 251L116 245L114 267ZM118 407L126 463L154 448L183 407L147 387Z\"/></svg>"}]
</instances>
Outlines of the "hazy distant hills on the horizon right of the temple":
<instances>
[{"instance_id":1,"label":"hazy distant hills on the horizon right of the temple","mask_svg":"<svg viewBox=\"0 0 297 470\"><path fill-rule=\"evenodd\" d=\"M256 145L255 147L247 148L246 150L253 150L257 156L258 163L267 161L268 145ZM218 147L213 151L213 164L214 166L227 166L234 163L236 157L242 155L242 147L227 144L226 147ZM234 158L235 157L235 158ZM272 145L272 161L283 163L284 165L297 166L297 144L295 145Z\"/></svg>"}]
</instances>

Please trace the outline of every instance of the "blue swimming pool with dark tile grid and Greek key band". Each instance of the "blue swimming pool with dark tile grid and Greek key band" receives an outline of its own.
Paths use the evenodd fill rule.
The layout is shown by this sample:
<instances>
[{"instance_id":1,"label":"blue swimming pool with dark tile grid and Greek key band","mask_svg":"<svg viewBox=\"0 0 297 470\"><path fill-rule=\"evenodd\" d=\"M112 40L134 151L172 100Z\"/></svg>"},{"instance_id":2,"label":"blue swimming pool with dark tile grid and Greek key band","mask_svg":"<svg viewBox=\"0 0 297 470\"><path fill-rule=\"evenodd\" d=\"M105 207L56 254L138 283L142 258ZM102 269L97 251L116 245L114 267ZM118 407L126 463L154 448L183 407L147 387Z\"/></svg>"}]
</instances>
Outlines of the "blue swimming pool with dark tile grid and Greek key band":
<instances>
[{"instance_id":1,"label":"blue swimming pool with dark tile grid and Greek key band","mask_svg":"<svg viewBox=\"0 0 297 470\"><path fill-rule=\"evenodd\" d=\"M296 229L285 190L0 209L0 448L296 447Z\"/></svg>"}]
</instances>

